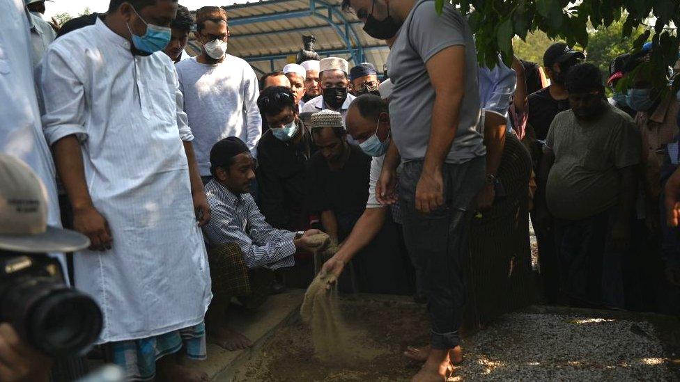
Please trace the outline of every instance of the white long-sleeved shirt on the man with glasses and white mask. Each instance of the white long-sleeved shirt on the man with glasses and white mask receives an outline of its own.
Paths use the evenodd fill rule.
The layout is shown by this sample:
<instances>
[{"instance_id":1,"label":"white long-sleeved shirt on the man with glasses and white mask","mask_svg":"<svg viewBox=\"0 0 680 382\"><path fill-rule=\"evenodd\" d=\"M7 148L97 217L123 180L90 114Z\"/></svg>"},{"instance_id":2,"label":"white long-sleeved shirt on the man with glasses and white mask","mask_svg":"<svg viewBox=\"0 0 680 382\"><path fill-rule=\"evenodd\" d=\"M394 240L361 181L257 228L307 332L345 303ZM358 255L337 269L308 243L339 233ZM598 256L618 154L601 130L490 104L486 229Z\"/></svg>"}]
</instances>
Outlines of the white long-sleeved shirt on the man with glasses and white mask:
<instances>
[{"instance_id":1,"label":"white long-sleeved shirt on the man with glasses and white mask","mask_svg":"<svg viewBox=\"0 0 680 382\"><path fill-rule=\"evenodd\" d=\"M206 65L195 57L175 65L184 94L184 111L194 134L194 152L201 176L210 175L210 150L222 138L236 136L253 156L262 135L257 107L257 77L241 58L226 55L222 63Z\"/></svg>"}]
</instances>

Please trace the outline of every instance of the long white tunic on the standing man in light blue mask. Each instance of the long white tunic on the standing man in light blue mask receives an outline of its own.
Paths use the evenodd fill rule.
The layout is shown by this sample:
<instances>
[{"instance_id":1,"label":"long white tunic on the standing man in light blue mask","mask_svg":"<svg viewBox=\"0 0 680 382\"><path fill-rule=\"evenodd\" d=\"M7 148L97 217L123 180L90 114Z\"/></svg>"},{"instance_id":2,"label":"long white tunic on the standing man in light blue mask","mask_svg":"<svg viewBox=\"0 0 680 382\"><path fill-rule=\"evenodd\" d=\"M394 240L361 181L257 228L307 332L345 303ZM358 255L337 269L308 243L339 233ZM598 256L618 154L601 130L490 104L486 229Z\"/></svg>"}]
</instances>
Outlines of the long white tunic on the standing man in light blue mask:
<instances>
[{"instance_id":1,"label":"long white tunic on the standing man in light blue mask","mask_svg":"<svg viewBox=\"0 0 680 382\"><path fill-rule=\"evenodd\" d=\"M47 142L75 134L113 248L74 256L104 312L99 343L199 324L212 294L182 141L193 139L168 56L132 56L100 19L57 39L40 64Z\"/></svg>"}]
</instances>

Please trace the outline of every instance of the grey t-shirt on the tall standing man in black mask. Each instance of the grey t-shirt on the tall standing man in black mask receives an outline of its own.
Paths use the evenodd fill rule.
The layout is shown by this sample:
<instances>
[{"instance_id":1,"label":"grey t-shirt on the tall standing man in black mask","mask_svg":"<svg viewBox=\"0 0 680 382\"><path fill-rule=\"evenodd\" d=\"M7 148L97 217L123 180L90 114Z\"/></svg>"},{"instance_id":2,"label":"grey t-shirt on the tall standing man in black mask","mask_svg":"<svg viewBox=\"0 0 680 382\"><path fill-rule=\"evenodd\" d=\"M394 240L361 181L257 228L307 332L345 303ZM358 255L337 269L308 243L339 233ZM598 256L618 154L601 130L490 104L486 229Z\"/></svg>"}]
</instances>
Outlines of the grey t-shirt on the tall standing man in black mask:
<instances>
[{"instance_id":1,"label":"grey t-shirt on the tall standing man in black mask","mask_svg":"<svg viewBox=\"0 0 680 382\"><path fill-rule=\"evenodd\" d=\"M387 59L389 78L394 84L389 102L392 137L403 161L424 159L430 140L435 90L425 63L454 45L465 47L465 96L456 137L445 162L460 164L486 153L482 136L475 131L480 106L477 51L470 26L448 2L440 16L434 0L421 0L399 29Z\"/></svg>"}]
</instances>

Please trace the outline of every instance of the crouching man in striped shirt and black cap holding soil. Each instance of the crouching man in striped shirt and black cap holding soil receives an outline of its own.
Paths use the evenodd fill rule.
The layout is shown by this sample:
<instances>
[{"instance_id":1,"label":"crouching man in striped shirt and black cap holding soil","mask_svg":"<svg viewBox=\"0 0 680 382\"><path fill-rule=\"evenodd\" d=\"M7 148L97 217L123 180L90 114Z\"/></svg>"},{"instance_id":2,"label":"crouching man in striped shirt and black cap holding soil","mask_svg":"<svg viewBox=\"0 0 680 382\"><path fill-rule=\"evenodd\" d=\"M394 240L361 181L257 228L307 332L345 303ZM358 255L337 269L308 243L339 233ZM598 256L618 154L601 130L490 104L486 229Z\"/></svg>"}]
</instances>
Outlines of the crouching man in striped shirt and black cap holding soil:
<instances>
[{"instance_id":1,"label":"crouching man in striped shirt and black cap holding soil","mask_svg":"<svg viewBox=\"0 0 680 382\"><path fill-rule=\"evenodd\" d=\"M203 232L210 246L208 257L214 297L206 324L210 340L228 350L244 349L252 344L247 337L226 326L226 308L231 297L249 295L251 299L263 301L256 296L268 294L268 278L254 271L295 265L295 252L314 250L318 244L310 237L320 233L319 230L277 230L265 222L249 194L255 167L247 145L239 138L224 138L210 150L213 178L206 184L206 196L212 218L203 226Z\"/></svg>"}]
</instances>

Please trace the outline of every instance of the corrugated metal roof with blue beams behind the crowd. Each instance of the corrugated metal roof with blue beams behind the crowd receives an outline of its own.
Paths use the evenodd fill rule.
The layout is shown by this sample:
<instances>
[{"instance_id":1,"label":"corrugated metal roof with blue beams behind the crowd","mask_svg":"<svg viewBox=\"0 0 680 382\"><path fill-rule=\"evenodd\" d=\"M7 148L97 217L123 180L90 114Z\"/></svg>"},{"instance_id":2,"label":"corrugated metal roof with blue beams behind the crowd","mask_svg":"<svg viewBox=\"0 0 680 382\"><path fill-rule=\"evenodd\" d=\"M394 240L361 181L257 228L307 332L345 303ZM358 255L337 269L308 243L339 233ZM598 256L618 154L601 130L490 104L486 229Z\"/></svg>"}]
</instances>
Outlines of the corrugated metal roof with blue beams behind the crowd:
<instances>
[{"instance_id":1,"label":"corrugated metal roof with blue beams behind the crowd","mask_svg":"<svg viewBox=\"0 0 680 382\"><path fill-rule=\"evenodd\" d=\"M380 70L387 45L366 35L362 23L340 5L341 0L267 0L226 6L229 54L263 74L294 62L302 35L314 35L320 56L343 57L350 66L368 61Z\"/></svg>"}]
</instances>

